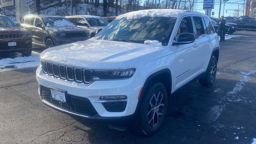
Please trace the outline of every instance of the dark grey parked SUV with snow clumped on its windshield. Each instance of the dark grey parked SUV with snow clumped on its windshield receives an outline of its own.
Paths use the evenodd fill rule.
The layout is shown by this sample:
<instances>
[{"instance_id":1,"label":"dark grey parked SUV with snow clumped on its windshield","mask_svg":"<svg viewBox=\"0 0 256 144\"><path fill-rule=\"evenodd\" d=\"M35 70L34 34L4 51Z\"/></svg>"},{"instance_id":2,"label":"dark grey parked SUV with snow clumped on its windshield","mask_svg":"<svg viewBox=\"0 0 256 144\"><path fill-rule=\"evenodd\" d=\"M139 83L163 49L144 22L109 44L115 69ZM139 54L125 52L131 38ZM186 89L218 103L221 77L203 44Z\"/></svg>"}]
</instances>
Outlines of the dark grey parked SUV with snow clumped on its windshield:
<instances>
[{"instance_id":1,"label":"dark grey parked SUV with snow clumped on its windshield","mask_svg":"<svg viewBox=\"0 0 256 144\"><path fill-rule=\"evenodd\" d=\"M76 27L62 16L26 15L20 27L30 32L34 45L46 48L90 38L88 31Z\"/></svg>"}]
</instances>

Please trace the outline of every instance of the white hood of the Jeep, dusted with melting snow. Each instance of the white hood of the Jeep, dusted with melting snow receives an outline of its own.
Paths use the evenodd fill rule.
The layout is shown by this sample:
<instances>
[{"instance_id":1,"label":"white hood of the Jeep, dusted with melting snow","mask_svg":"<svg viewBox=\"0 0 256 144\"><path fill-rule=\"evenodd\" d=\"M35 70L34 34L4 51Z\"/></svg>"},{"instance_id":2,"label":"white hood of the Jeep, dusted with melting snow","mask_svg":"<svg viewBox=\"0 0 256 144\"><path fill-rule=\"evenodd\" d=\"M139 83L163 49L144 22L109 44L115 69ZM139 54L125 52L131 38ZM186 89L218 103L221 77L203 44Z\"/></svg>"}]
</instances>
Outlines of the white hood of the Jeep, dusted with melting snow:
<instances>
[{"instance_id":1,"label":"white hood of the Jeep, dusted with melting snow","mask_svg":"<svg viewBox=\"0 0 256 144\"><path fill-rule=\"evenodd\" d=\"M49 62L90 69L119 69L124 62L164 48L148 44L94 38L48 48L40 58ZM148 60L149 58L147 58Z\"/></svg>"}]
</instances>

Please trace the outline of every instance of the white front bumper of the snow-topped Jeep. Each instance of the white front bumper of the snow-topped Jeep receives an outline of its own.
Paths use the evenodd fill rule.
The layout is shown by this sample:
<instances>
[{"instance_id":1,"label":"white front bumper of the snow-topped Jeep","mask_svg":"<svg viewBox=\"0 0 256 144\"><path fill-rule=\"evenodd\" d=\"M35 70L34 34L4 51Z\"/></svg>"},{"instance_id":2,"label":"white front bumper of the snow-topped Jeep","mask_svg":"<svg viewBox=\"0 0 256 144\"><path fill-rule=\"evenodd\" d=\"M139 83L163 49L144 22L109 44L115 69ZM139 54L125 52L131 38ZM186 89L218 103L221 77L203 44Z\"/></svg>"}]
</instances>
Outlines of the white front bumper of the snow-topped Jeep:
<instances>
[{"instance_id":1,"label":"white front bumper of the snow-topped Jeep","mask_svg":"<svg viewBox=\"0 0 256 144\"><path fill-rule=\"evenodd\" d=\"M44 104L55 108L61 112L73 114L76 116L82 116L90 119L105 119L115 120L125 117L132 117L136 110L138 103L138 94L140 91L140 84L136 84L136 74L132 78L125 80L102 80L95 81L90 85L78 84L76 82L68 82L60 79L56 79L43 74L41 67L39 66L36 71L36 79L38 80L39 94ZM60 90L66 90L68 96L74 96L82 99L88 99L96 110L96 114L80 114L79 112L70 111L67 108L62 108L56 104L52 104L42 98L41 86L46 88L54 87ZM102 103L96 102L100 96L119 96L125 95L127 97L126 107L122 112L109 112L103 106ZM64 104L64 103L62 103Z\"/></svg>"}]
</instances>

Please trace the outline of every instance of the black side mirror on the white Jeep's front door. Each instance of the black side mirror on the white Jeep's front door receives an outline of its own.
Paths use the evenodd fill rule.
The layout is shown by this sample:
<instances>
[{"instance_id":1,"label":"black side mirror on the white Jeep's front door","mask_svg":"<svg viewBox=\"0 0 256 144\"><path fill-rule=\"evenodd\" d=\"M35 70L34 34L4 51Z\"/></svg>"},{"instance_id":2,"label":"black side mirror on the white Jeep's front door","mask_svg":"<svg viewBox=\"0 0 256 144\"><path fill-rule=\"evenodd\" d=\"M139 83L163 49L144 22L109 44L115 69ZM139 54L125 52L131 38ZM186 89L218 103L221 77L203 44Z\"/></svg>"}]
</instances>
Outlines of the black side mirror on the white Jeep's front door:
<instances>
[{"instance_id":1,"label":"black side mirror on the white Jeep's front door","mask_svg":"<svg viewBox=\"0 0 256 144\"><path fill-rule=\"evenodd\" d=\"M196 39L195 34L192 33L181 33L179 34L178 38L172 42L173 45L180 45L180 44L190 44L194 42Z\"/></svg>"}]
</instances>

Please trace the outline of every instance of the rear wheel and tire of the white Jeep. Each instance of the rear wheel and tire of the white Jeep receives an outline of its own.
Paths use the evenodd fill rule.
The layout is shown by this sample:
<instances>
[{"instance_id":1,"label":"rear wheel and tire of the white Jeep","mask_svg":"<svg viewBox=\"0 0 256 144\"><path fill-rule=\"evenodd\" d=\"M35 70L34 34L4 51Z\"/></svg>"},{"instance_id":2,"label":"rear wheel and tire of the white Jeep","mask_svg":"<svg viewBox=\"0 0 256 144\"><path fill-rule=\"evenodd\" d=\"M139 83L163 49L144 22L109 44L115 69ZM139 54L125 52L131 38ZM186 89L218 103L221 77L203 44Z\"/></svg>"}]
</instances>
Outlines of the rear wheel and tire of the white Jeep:
<instances>
[{"instance_id":1,"label":"rear wheel and tire of the white Jeep","mask_svg":"<svg viewBox=\"0 0 256 144\"><path fill-rule=\"evenodd\" d=\"M199 83L202 86L212 86L216 78L216 72L217 72L217 59L215 56L212 56L208 64L206 76L199 78Z\"/></svg>"}]
</instances>

